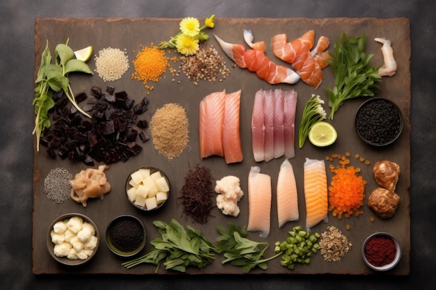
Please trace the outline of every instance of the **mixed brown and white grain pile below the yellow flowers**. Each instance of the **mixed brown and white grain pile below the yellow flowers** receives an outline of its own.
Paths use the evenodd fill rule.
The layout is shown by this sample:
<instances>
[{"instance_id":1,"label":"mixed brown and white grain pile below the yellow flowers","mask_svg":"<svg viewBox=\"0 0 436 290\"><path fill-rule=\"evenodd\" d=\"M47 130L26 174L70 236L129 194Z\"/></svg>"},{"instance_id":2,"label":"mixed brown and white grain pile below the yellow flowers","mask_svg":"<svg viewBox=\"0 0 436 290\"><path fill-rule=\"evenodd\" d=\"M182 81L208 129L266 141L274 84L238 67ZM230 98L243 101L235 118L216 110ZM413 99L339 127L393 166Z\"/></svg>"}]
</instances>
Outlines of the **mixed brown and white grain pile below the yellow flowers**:
<instances>
[{"instance_id":1,"label":"mixed brown and white grain pile below the yellow flowers","mask_svg":"<svg viewBox=\"0 0 436 290\"><path fill-rule=\"evenodd\" d=\"M207 47L201 44L199 50L193 56L180 56L180 68L182 72L195 85L201 79L215 83L223 81L230 74L226 62L219 52L211 45Z\"/></svg>"}]
</instances>

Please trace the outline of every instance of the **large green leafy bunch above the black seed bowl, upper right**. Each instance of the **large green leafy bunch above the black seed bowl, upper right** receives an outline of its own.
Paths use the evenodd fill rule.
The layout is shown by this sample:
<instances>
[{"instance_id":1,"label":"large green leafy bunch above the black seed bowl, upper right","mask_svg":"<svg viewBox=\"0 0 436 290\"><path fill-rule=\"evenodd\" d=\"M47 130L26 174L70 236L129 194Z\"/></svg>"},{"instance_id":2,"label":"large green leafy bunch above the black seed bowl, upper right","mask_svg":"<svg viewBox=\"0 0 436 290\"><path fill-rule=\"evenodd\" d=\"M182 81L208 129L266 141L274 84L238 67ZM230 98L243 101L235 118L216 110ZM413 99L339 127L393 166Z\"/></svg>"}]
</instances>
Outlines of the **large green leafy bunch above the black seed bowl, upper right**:
<instances>
[{"instance_id":1,"label":"large green leafy bunch above the black seed bowl, upper right","mask_svg":"<svg viewBox=\"0 0 436 290\"><path fill-rule=\"evenodd\" d=\"M348 99L355 97L373 97L380 91L378 67L370 63L373 54L365 54L366 35L359 38L341 34L340 42L335 42L336 54L331 54L332 61L327 61L334 72L335 82L333 90L327 89L329 106L332 112L329 119L333 120L334 113Z\"/></svg>"}]
</instances>

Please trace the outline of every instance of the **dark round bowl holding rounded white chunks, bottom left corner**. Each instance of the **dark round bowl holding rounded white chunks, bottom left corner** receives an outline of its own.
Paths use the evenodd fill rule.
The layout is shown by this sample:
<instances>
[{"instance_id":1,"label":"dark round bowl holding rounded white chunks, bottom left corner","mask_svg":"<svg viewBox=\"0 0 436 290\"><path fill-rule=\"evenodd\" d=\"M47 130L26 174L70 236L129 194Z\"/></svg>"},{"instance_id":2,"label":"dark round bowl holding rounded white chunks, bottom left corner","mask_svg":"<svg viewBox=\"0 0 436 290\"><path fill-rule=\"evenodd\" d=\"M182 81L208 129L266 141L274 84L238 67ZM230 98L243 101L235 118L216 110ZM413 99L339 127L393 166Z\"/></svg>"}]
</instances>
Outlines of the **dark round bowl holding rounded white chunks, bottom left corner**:
<instances>
[{"instance_id":1,"label":"dark round bowl holding rounded white chunks, bottom left corner","mask_svg":"<svg viewBox=\"0 0 436 290\"><path fill-rule=\"evenodd\" d=\"M89 223L95 229L95 234L93 234L93 236L95 236L97 238L95 240L96 243L95 243L95 241L90 242L90 243L93 243L93 249L92 249L91 254L87 255L88 257L86 257L86 259L83 259L83 256L82 256L82 259L79 259L78 257L75 257L77 259L72 259L72 258L70 259L68 257L59 257L59 255L56 255L55 251L54 251L55 244L52 241L52 230L53 230L54 225L56 225L56 223L58 223L58 222L66 223L68 220L70 220L70 218L73 218L73 217L81 218L81 220L83 220L84 223L85 222ZM69 232L69 234L70 234L70 237L77 236L75 234L72 234L72 236L71 236L71 232ZM67 234L64 232L63 234L60 234L60 235L65 238L65 236ZM62 239L61 236L57 236L57 238ZM83 238L83 236L81 236L81 237ZM65 242L65 243L68 243L68 242ZM91 220L91 218L88 218L87 216L84 216L83 214L72 213L72 214L64 214L63 216L59 216L59 218L56 218L55 220L53 220L53 222L50 224L50 226L47 230L47 249L49 251L49 254L53 257L53 259L55 259L56 261L58 261L59 263L61 263L63 265L78 266L81 264L85 264L87 261L91 260L94 257L95 253L98 250L99 243L100 243L100 232L98 231L97 225L95 225L95 223L93 222L93 220ZM70 243L70 245L71 245L71 243ZM88 245L90 245L90 244L88 244ZM57 252L58 252L58 254L60 254L59 251L57 251ZM89 252L87 254L89 254Z\"/></svg>"}]
</instances>

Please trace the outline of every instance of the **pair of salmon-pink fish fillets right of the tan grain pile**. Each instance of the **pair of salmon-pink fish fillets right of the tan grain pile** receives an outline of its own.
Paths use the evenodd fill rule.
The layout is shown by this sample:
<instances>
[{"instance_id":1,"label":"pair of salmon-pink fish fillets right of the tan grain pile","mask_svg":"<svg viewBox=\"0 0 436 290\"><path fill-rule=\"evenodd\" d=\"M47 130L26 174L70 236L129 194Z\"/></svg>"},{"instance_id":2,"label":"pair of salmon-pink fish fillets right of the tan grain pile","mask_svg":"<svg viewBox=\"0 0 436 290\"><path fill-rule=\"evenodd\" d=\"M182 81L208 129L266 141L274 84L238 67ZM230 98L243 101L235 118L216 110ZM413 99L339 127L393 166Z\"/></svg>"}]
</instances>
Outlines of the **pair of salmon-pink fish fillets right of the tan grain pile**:
<instances>
[{"instance_id":1,"label":"pair of salmon-pink fish fillets right of the tan grain pile","mask_svg":"<svg viewBox=\"0 0 436 290\"><path fill-rule=\"evenodd\" d=\"M243 159L240 138L241 90L226 94L212 92L200 102L199 133L201 158L224 156L226 163Z\"/></svg>"}]
</instances>

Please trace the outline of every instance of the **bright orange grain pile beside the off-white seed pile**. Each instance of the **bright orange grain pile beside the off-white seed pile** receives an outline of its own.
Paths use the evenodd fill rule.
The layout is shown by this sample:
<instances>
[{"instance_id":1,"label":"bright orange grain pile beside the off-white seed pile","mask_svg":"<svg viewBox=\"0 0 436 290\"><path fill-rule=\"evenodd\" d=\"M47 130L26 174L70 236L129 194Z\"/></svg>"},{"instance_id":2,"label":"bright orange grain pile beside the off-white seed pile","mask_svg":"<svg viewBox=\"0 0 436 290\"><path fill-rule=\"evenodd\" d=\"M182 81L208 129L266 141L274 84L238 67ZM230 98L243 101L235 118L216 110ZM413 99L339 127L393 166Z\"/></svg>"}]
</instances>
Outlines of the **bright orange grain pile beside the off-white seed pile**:
<instances>
[{"instance_id":1,"label":"bright orange grain pile beside the off-white seed pile","mask_svg":"<svg viewBox=\"0 0 436 290\"><path fill-rule=\"evenodd\" d=\"M146 89L153 90L154 86L150 86L148 82L161 79L169 67L169 58L164 50L158 49L152 43L150 47L142 47L132 63L135 70L132 79L142 81Z\"/></svg>"}]
</instances>

